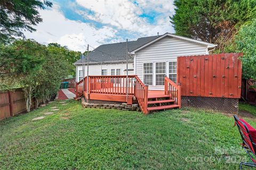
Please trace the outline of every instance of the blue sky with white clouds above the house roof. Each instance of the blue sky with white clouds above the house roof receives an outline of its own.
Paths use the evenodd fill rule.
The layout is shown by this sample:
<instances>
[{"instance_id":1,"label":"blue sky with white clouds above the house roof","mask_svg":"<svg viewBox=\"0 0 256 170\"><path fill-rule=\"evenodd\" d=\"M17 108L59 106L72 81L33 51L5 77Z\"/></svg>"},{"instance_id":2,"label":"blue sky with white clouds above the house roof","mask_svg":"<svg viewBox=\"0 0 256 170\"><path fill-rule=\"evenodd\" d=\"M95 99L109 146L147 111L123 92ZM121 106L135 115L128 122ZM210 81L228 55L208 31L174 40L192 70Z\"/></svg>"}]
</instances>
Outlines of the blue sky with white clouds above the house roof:
<instances>
[{"instance_id":1,"label":"blue sky with white clouds above the house roof","mask_svg":"<svg viewBox=\"0 0 256 170\"><path fill-rule=\"evenodd\" d=\"M39 10L43 22L25 32L39 43L58 43L84 52L87 44L136 40L165 32L174 33L169 16L174 14L170 0L49 0L52 7Z\"/></svg>"}]
</instances>

